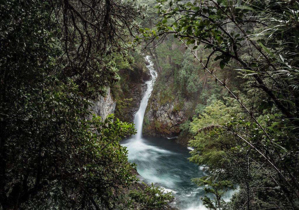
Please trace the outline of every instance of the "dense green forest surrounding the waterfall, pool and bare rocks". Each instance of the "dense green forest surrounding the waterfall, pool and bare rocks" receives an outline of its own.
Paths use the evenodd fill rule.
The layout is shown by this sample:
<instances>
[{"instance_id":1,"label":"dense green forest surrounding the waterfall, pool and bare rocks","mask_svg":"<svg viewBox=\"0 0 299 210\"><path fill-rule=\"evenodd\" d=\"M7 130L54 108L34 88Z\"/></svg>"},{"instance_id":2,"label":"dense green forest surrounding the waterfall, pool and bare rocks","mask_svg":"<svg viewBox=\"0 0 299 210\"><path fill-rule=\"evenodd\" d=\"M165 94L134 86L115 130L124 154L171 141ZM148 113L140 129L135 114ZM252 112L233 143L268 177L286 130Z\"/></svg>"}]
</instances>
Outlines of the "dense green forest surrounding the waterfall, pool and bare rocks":
<instances>
[{"instance_id":1,"label":"dense green forest surrounding the waterfall, pool and bare rocks","mask_svg":"<svg viewBox=\"0 0 299 210\"><path fill-rule=\"evenodd\" d=\"M128 192L134 125L91 111L111 88L124 117L145 54L148 111L185 115L145 130L187 139L205 207L298 209L298 31L294 0L1 1L0 209L166 208L153 184Z\"/></svg>"}]
</instances>

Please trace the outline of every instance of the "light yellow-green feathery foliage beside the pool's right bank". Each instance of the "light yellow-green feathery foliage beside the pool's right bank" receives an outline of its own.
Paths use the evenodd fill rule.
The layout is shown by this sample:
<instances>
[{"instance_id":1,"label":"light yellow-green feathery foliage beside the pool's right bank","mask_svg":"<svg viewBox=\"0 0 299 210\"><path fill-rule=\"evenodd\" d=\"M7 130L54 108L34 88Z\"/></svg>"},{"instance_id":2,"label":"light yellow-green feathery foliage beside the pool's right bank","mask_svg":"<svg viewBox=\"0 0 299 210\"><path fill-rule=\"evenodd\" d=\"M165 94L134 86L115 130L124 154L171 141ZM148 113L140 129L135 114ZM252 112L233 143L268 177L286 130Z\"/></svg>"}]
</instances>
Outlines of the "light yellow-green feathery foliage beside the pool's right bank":
<instances>
[{"instance_id":1,"label":"light yellow-green feathery foliage beside the pool's right bank","mask_svg":"<svg viewBox=\"0 0 299 210\"><path fill-rule=\"evenodd\" d=\"M207 138L206 134L219 134L213 129L229 122L238 111L238 106L227 107L221 101L215 101L204 109L199 118L193 119L190 131L195 137L189 143L195 149L191 151L190 161L199 165L207 164L212 167L211 170L213 167L221 168L228 159L227 150L235 146L235 140L227 135Z\"/></svg>"}]
</instances>

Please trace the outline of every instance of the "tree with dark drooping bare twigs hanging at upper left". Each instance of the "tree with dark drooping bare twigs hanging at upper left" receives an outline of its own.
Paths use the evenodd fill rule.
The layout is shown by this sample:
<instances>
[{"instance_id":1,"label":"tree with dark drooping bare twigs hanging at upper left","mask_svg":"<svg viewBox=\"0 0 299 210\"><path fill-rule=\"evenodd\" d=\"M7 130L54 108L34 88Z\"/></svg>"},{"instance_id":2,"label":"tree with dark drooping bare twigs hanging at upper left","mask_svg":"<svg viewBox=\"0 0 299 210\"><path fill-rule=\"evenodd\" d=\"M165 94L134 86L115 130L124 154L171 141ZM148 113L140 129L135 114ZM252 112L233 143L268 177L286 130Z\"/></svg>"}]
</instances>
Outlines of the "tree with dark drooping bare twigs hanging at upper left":
<instances>
[{"instance_id":1,"label":"tree with dark drooping bare twigs hanging at upper left","mask_svg":"<svg viewBox=\"0 0 299 210\"><path fill-rule=\"evenodd\" d=\"M119 79L110 56L125 54L136 27L135 19L143 17L143 8L132 0L66 0L48 4L52 24L61 29L59 44L65 51L62 76L73 78L86 94L105 93L105 86Z\"/></svg>"}]
</instances>

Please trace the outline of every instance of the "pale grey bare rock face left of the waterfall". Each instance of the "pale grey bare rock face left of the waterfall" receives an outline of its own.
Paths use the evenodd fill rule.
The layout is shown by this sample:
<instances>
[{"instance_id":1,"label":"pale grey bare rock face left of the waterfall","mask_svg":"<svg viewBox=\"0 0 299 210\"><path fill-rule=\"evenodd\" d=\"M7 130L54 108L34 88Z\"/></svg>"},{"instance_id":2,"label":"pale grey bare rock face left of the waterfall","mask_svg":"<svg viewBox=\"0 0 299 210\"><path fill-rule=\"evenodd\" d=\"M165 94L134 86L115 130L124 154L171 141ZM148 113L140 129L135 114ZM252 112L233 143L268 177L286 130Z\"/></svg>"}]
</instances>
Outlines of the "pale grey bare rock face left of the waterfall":
<instances>
[{"instance_id":1,"label":"pale grey bare rock face left of the waterfall","mask_svg":"<svg viewBox=\"0 0 299 210\"><path fill-rule=\"evenodd\" d=\"M93 103L91 110L95 114L101 116L104 120L109 114L114 113L116 102L110 94L110 88L107 88L106 96L99 96L97 99L91 101Z\"/></svg>"}]
</instances>

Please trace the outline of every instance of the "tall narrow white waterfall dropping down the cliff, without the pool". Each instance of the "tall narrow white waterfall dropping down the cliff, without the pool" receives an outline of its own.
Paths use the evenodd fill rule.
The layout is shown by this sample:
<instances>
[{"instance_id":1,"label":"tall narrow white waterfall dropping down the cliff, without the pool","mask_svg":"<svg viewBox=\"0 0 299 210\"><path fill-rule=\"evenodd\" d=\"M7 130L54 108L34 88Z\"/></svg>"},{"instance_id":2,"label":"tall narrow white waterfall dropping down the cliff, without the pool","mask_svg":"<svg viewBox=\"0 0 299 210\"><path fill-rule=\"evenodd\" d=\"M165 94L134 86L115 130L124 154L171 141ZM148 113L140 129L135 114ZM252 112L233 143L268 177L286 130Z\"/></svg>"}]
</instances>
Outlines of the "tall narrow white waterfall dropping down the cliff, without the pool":
<instances>
[{"instance_id":1,"label":"tall narrow white waterfall dropping down the cliff, without the pool","mask_svg":"<svg viewBox=\"0 0 299 210\"><path fill-rule=\"evenodd\" d=\"M144 113L145 109L147 108L147 102L149 100L149 97L152 93L152 88L153 84L155 82L155 79L157 77L157 73L154 70L154 64L150 59L150 56L146 56L145 60L149 62L149 65L147 65L147 68L149 69L149 72L152 76L152 78L149 81L146 81L145 83L147 84L147 90L144 93L144 96L141 100L140 107L138 111L136 112L134 116L134 124L135 128L137 129L137 134L135 134L134 138L140 140L141 139L141 134L142 134L142 124L143 124L143 118L144 118Z\"/></svg>"}]
</instances>

